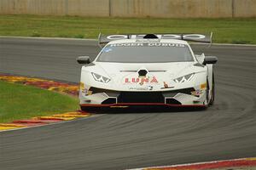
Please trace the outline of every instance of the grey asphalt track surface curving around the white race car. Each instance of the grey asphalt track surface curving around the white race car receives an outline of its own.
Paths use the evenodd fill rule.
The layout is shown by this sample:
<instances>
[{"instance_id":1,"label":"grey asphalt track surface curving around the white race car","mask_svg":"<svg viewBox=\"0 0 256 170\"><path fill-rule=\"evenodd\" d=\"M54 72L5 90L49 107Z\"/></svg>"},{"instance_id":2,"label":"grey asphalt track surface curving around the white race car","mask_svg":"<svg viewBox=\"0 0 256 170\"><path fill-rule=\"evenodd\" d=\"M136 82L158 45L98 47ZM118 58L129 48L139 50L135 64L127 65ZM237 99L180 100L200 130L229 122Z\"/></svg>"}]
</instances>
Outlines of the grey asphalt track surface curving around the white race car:
<instances>
[{"instance_id":1,"label":"grey asphalt track surface curving around the white race car","mask_svg":"<svg viewBox=\"0 0 256 170\"><path fill-rule=\"evenodd\" d=\"M0 72L79 82L95 41L0 38ZM102 114L0 133L0 169L125 169L256 156L256 48L194 45L218 56L207 111Z\"/></svg>"}]
</instances>

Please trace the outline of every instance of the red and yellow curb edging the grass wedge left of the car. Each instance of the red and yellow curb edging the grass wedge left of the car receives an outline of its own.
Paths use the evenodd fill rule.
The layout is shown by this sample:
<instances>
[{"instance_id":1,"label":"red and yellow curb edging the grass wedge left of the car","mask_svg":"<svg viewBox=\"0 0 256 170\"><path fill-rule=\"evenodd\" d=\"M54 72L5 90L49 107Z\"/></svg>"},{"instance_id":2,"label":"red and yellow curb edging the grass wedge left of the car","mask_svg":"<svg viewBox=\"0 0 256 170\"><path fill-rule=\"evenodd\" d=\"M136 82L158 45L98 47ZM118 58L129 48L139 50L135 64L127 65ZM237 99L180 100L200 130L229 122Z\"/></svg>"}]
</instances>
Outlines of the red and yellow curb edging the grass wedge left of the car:
<instances>
[{"instance_id":1,"label":"red and yellow curb edging the grass wedge left of the car","mask_svg":"<svg viewBox=\"0 0 256 170\"><path fill-rule=\"evenodd\" d=\"M55 91L63 94L78 95L79 86L64 82L54 82L40 78L32 77L17 77L10 75L1 75L0 80L5 82L20 83L28 86L35 86L38 88L44 88L50 91ZM66 113L55 114L51 116L37 116L24 120L16 120L9 123L0 123L0 132L7 130L16 130L26 127L38 127L48 125L50 123L71 121L79 117L90 116L89 113L84 111L72 111Z\"/></svg>"}]
</instances>

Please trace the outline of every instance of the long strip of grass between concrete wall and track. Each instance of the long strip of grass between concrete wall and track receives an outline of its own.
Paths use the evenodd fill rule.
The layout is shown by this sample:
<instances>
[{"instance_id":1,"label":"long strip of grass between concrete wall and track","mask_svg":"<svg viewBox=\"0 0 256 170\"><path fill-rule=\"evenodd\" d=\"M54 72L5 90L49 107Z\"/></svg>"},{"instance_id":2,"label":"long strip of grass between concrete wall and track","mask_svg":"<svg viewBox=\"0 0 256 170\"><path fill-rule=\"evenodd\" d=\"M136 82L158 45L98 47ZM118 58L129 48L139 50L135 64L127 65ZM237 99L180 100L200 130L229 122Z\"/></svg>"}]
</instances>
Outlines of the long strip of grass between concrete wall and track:
<instances>
[{"instance_id":1,"label":"long strip of grass between concrete wall and track","mask_svg":"<svg viewBox=\"0 0 256 170\"><path fill-rule=\"evenodd\" d=\"M96 38L104 34L213 31L213 42L256 44L256 19L121 19L0 15L0 36Z\"/></svg>"}]
</instances>

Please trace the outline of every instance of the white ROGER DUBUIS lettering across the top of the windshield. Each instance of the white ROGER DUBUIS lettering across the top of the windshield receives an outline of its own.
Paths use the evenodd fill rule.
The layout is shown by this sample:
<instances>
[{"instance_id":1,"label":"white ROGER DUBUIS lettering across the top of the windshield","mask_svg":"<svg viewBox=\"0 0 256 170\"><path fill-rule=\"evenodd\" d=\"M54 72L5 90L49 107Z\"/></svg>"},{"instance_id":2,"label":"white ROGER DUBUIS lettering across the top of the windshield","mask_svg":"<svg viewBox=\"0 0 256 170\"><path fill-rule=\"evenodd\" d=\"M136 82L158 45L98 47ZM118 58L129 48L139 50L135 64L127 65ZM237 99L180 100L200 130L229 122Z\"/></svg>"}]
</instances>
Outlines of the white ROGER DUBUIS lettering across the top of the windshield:
<instances>
[{"instance_id":1,"label":"white ROGER DUBUIS lettering across the top of the windshield","mask_svg":"<svg viewBox=\"0 0 256 170\"><path fill-rule=\"evenodd\" d=\"M182 43L168 43L168 42L125 42L113 43L109 47L175 47L185 48L186 45Z\"/></svg>"}]
</instances>

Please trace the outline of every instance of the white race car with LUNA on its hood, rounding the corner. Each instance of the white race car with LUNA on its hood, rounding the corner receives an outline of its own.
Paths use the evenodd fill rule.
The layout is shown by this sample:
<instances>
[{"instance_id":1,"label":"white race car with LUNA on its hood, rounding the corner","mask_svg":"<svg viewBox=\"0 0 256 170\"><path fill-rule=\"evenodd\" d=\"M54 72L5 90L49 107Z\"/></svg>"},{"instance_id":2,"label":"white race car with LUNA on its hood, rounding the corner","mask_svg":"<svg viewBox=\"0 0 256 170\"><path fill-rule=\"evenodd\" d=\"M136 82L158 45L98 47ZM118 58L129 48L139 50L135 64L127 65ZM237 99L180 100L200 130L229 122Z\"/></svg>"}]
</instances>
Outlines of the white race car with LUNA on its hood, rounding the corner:
<instances>
[{"instance_id":1,"label":"white race car with LUNA on its hood, rounding the corner","mask_svg":"<svg viewBox=\"0 0 256 170\"><path fill-rule=\"evenodd\" d=\"M195 55L187 41L212 42L212 35L147 34L99 36L96 59L82 64L83 111L91 107L163 105L207 108L214 101L214 56Z\"/></svg>"}]
</instances>

